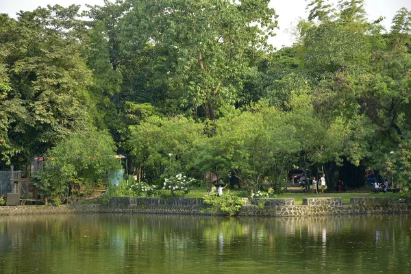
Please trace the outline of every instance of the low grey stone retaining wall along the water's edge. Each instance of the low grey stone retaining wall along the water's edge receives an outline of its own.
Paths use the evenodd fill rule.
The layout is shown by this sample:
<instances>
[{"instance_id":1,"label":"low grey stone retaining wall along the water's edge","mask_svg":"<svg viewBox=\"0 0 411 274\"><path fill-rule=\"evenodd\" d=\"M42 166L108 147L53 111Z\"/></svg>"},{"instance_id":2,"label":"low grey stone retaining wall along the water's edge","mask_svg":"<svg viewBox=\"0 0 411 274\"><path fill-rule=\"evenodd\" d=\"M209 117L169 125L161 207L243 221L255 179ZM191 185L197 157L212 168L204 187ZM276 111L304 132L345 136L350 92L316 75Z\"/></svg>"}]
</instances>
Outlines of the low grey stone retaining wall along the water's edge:
<instances>
[{"instance_id":1,"label":"low grey stone retaining wall along the water's edge","mask_svg":"<svg viewBox=\"0 0 411 274\"><path fill-rule=\"evenodd\" d=\"M408 200L409 201L409 200ZM0 206L0 215L10 214L197 214L210 215L210 206L201 198L135 198L113 197L109 205ZM341 198L305 198L303 205L294 199L253 199L242 206L239 216L320 216L355 214L411 214L411 203L395 203L392 198L352 198L349 204Z\"/></svg>"}]
</instances>

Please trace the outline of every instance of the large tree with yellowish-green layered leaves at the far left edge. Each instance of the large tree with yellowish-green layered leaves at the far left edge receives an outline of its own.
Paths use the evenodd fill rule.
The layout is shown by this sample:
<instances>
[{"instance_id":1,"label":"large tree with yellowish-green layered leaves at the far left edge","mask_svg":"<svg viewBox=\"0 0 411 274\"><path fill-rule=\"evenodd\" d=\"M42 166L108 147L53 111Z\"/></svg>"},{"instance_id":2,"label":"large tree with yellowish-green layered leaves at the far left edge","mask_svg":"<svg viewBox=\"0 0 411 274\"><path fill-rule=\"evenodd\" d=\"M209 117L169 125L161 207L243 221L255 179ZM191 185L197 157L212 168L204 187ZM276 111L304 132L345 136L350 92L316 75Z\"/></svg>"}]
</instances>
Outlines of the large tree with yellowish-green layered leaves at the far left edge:
<instances>
[{"instance_id":1,"label":"large tree with yellowish-green layered leaves at the far left edge","mask_svg":"<svg viewBox=\"0 0 411 274\"><path fill-rule=\"evenodd\" d=\"M0 15L1 157L27 160L88 123L91 74L79 6Z\"/></svg>"}]
</instances>

